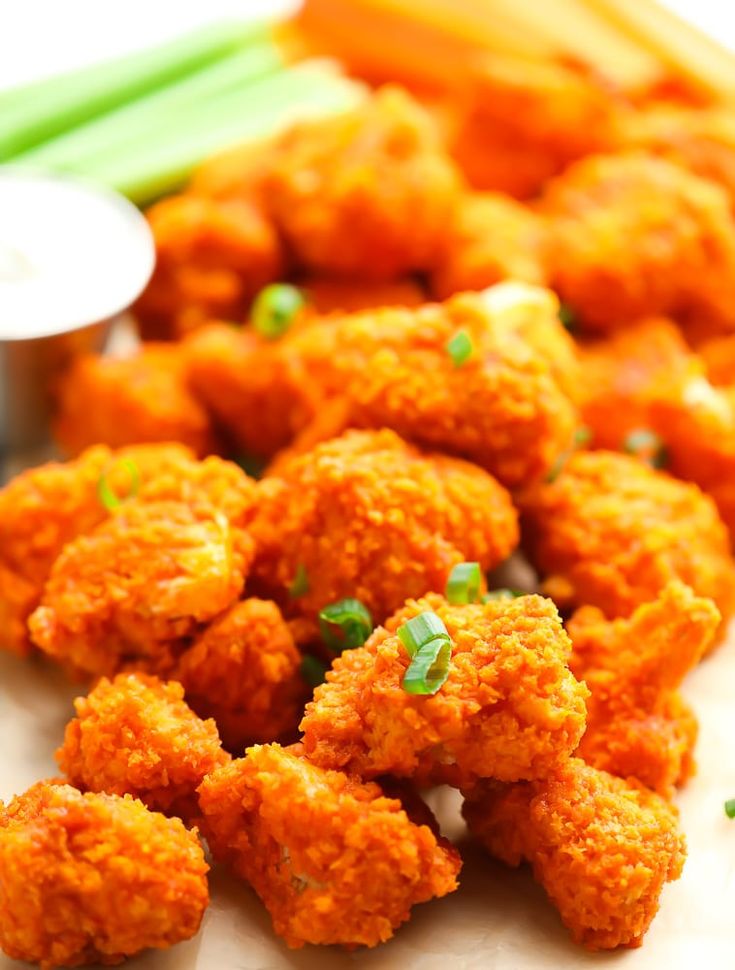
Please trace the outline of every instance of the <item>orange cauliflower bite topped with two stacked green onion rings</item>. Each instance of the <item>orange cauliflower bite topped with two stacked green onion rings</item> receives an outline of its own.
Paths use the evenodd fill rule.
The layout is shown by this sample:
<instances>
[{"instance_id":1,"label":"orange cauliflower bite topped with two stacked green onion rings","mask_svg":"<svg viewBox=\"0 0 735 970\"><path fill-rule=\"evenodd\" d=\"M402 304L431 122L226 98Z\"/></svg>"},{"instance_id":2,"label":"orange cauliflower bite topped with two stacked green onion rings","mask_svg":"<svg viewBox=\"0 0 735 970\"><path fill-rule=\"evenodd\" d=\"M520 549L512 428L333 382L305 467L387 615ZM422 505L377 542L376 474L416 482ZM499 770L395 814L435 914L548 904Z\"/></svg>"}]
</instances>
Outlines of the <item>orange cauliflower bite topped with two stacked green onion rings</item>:
<instances>
[{"instance_id":1,"label":"orange cauliflower bite topped with two stacked green onion rings","mask_svg":"<svg viewBox=\"0 0 735 970\"><path fill-rule=\"evenodd\" d=\"M444 622L452 654L439 691L415 696L401 686L410 659L396 631L426 610ZM541 596L450 606L428 594L334 660L301 722L304 751L361 777L544 777L584 731L587 689L567 667L570 653L556 607Z\"/></svg>"}]
</instances>

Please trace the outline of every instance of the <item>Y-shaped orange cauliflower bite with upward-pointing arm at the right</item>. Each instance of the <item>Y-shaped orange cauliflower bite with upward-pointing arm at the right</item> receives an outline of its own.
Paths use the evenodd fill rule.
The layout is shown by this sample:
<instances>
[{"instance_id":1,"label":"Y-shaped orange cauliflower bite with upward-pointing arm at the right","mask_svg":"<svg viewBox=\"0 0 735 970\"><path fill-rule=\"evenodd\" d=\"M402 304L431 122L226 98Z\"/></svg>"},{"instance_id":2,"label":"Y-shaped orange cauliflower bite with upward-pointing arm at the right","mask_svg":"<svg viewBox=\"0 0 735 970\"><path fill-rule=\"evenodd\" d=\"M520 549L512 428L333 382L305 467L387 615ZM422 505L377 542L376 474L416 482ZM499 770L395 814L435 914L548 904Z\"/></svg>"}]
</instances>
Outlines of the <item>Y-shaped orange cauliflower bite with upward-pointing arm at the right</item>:
<instances>
[{"instance_id":1,"label":"Y-shaped orange cauliflower bite with upward-pointing arm at the right","mask_svg":"<svg viewBox=\"0 0 735 970\"><path fill-rule=\"evenodd\" d=\"M697 721L678 688L719 622L714 603L681 583L629 619L606 620L594 606L577 610L567 624L569 666L591 691L580 757L664 796L687 781Z\"/></svg>"}]
</instances>

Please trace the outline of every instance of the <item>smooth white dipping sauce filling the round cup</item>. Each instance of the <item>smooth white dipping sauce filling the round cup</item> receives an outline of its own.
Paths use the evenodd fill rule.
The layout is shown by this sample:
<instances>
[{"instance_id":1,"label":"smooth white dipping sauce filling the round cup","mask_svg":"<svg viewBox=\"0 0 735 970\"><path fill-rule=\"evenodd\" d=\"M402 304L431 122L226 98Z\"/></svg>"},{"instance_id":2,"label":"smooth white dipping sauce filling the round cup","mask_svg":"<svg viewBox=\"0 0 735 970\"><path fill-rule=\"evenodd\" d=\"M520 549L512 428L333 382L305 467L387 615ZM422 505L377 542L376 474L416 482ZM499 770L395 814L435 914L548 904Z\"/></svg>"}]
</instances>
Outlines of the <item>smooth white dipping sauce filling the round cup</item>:
<instances>
[{"instance_id":1,"label":"smooth white dipping sauce filling the round cup","mask_svg":"<svg viewBox=\"0 0 735 970\"><path fill-rule=\"evenodd\" d=\"M127 199L70 176L0 166L0 340L114 317L154 262L151 231Z\"/></svg>"}]
</instances>

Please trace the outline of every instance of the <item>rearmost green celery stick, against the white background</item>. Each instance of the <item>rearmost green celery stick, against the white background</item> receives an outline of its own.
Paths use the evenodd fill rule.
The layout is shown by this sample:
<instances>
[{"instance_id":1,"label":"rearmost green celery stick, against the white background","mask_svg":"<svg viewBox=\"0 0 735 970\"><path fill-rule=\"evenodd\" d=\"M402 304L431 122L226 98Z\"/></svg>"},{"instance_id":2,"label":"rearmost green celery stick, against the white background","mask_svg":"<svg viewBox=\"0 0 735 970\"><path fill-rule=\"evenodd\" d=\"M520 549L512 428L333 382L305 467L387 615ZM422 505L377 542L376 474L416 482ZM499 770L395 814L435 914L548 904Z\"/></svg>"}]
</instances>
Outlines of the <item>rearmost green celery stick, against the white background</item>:
<instances>
[{"instance_id":1,"label":"rearmost green celery stick, against the white background","mask_svg":"<svg viewBox=\"0 0 735 970\"><path fill-rule=\"evenodd\" d=\"M166 44L3 95L0 162L103 111L262 39L263 23L214 24Z\"/></svg>"}]
</instances>

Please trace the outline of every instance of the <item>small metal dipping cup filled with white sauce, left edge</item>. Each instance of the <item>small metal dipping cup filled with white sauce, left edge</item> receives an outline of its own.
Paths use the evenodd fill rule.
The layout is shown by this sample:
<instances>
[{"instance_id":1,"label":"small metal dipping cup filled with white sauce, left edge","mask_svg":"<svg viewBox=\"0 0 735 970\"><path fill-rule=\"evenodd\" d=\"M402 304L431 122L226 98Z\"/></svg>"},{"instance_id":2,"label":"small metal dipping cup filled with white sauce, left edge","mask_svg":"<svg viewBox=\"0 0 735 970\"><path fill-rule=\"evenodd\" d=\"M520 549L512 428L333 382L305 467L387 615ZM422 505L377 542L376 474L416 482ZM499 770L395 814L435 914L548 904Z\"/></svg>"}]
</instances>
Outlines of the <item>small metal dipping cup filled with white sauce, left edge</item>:
<instances>
[{"instance_id":1,"label":"small metal dipping cup filled with white sauce, left edge","mask_svg":"<svg viewBox=\"0 0 735 970\"><path fill-rule=\"evenodd\" d=\"M77 178L0 166L0 460L50 440L52 393L153 272L148 224L123 196Z\"/></svg>"}]
</instances>

